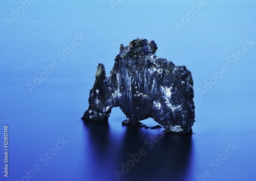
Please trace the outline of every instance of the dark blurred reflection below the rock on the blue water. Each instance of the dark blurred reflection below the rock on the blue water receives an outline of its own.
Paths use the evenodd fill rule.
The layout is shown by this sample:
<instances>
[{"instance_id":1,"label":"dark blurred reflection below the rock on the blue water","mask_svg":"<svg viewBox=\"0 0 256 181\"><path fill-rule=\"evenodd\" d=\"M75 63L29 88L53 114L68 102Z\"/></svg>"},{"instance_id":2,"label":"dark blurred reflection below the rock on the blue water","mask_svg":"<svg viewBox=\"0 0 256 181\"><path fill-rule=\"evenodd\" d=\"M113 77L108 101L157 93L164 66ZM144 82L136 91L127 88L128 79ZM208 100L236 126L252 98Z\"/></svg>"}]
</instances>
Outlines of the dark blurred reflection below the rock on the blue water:
<instances>
[{"instance_id":1,"label":"dark blurred reflection below the rock on the blue water","mask_svg":"<svg viewBox=\"0 0 256 181\"><path fill-rule=\"evenodd\" d=\"M124 135L120 135L122 139L117 139L118 135L110 131L109 124L84 122L86 134L89 135L85 144L88 144L87 149L92 154L91 175L87 175L88 178L187 180L193 150L191 137L126 127Z\"/></svg>"}]
</instances>

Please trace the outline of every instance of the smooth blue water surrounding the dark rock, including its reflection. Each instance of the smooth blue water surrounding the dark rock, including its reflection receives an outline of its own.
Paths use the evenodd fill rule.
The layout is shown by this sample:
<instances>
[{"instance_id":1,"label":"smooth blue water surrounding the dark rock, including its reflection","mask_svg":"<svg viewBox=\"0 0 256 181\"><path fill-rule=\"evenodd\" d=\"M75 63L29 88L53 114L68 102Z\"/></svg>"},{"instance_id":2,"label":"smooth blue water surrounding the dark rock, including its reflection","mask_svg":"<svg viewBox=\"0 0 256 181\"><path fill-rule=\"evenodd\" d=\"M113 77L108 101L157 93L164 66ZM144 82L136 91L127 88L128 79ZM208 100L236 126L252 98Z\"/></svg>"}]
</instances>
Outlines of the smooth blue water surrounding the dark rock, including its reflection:
<instances>
[{"instance_id":1,"label":"smooth blue water surrounding the dark rock, including its reflection","mask_svg":"<svg viewBox=\"0 0 256 181\"><path fill-rule=\"evenodd\" d=\"M0 3L3 153L4 125L9 134L1 180L255 180L256 2L205 1L179 32L175 22L199 1L115 2L113 10L106 0L35 1L10 22L5 17L22 12L20 2ZM119 108L108 124L81 121L98 63L108 73L120 44L137 37L155 40L156 55L192 72L191 137L122 126ZM44 80L29 90L34 76ZM122 163L131 166L125 173Z\"/></svg>"}]
</instances>

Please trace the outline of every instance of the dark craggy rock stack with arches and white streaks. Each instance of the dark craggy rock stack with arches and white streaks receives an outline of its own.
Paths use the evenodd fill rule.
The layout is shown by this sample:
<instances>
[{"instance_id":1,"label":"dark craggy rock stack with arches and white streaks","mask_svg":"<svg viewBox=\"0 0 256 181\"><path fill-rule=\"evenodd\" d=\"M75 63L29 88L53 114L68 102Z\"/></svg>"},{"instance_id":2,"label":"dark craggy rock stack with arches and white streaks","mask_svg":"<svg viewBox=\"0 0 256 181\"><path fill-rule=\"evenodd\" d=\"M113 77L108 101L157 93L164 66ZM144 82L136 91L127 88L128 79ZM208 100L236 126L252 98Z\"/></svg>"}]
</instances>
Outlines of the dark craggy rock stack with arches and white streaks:
<instances>
[{"instance_id":1,"label":"dark craggy rock stack with arches and white streaks","mask_svg":"<svg viewBox=\"0 0 256 181\"><path fill-rule=\"evenodd\" d=\"M192 133L195 122L191 72L155 55L155 41L135 39L120 46L110 75L99 63L83 120L108 122L112 107L126 116L124 125L153 118L165 132Z\"/></svg>"}]
</instances>

